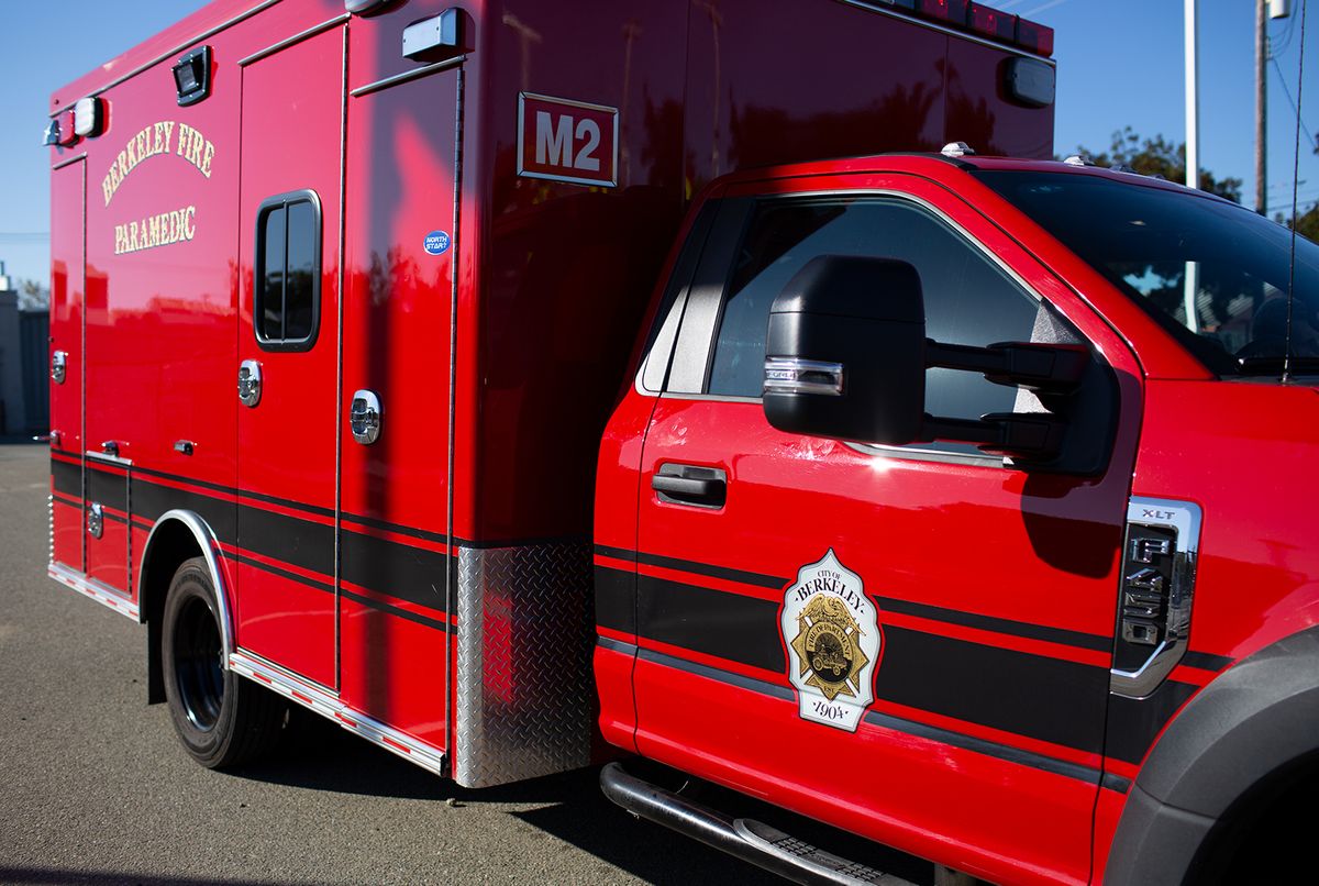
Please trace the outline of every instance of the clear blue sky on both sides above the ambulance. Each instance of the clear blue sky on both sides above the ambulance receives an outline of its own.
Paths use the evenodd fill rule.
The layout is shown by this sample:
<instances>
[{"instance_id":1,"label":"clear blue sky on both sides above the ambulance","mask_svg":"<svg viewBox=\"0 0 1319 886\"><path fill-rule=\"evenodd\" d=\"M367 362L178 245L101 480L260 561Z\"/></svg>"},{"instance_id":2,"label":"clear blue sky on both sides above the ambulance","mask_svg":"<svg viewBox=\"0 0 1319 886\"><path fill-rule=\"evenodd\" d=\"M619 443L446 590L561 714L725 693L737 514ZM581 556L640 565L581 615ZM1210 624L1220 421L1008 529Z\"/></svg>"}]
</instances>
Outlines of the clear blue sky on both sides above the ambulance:
<instances>
[{"instance_id":1,"label":"clear blue sky on both sides above the ambulance","mask_svg":"<svg viewBox=\"0 0 1319 886\"><path fill-rule=\"evenodd\" d=\"M1269 25L1277 67L1269 66L1269 204L1290 206L1301 50L1299 9ZM55 88L108 61L202 0L5 0L0 11L0 260L9 274L49 274L49 158L40 142ZM1184 138L1182 0L991 0L1005 12L1057 32L1058 111L1054 148L1105 150L1115 129ZM1302 120L1319 129L1319 4L1306 34ZM112 12L108 12L112 11ZM1281 71L1281 76L1279 76ZM1283 87L1283 78L1286 86ZM1253 0L1200 0L1200 166L1244 179L1254 202ZM1301 137L1302 208L1319 199L1319 156Z\"/></svg>"}]
</instances>

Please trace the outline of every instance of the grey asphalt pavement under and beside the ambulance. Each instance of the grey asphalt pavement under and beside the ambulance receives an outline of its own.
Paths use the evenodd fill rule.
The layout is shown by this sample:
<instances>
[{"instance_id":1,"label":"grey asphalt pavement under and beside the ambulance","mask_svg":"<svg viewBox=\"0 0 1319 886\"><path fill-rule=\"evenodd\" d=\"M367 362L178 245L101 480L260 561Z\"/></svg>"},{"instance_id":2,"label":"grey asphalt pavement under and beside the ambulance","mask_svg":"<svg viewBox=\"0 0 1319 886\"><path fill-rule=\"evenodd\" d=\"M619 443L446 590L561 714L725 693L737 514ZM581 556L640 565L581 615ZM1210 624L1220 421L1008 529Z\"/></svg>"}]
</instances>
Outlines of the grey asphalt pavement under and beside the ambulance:
<instances>
[{"instance_id":1,"label":"grey asphalt pavement under and beside the ambulance","mask_svg":"<svg viewBox=\"0 0 1319 886\"><path fill-rule=\"evenodd\" d=\"M46 577L47 489L45 446L0 446L0 882L782 882L633 819L596 769L467 791L310 715L259 765L198 766L146 704L145 629Z\"/></svg>"}]
</instances>

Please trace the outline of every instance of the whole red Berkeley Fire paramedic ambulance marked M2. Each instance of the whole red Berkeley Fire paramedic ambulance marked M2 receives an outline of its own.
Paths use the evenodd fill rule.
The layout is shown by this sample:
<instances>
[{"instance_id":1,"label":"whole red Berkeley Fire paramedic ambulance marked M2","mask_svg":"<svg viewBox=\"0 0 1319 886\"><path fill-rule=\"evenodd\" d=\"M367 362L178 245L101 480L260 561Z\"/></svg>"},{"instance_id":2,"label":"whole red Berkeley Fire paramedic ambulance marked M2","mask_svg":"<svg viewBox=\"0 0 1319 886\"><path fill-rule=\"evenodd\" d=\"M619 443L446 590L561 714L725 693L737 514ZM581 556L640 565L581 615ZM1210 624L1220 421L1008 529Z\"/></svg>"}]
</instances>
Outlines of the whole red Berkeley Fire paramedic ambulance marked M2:
<instances>
[{"instance_id":1,"label":"whole red Berkeley Fire paramedic ambulance marked M2","mask_svg":"<svg viewBox=\"0 0 1319 886\"><path fill-rule=\"evenodd\" d=\"M940 875L1294 864L1319 248L1050 160L1051 51L964 0L216 0L51 98L50 576L207 766L295 703Z\"/></svg>"}]
</instances>

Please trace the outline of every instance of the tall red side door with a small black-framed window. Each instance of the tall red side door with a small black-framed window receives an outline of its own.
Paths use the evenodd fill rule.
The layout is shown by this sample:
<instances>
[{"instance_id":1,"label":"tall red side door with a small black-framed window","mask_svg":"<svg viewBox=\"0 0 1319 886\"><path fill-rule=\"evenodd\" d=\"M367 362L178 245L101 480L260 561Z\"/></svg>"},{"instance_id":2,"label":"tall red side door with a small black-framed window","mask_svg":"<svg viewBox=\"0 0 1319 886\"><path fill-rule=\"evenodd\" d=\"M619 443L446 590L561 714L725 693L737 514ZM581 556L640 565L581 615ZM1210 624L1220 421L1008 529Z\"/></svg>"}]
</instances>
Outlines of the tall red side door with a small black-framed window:
<instances>
[{"instance_id":1,"label":"tall red side door with a small black-framed window","mask_svg":"<svg viewBox=\"0 0 1319 886\"><path fill-rule=\"evenodd\" d=\"M343 29L243 69L237 642L335 675ZM259 385L257 385L259 377Z\"/></svg>"}]
</instances>

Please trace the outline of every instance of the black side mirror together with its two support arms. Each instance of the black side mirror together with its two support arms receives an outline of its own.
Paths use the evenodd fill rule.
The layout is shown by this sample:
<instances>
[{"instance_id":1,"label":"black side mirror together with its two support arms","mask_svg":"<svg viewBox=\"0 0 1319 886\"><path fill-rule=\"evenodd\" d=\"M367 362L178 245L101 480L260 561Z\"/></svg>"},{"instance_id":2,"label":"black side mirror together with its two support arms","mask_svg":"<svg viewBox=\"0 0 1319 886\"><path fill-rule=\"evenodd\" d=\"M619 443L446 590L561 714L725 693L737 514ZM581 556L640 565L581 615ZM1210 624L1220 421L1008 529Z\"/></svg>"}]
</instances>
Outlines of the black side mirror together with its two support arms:
<instances>
[{"instance_id":1,"label":"black side mirror together with its two support arms","mask_svg":"<svg viewBox=\"0 0 1319 886\"><path fill-rule=\"evenodd\" d=\"M781 431L888 446L960 440L1037 461L1058 456L1063 419L927 415L925 370L979 372L995 384L1067 394L1089 363L1080 345L933 341L915 268L856 256L819 256L802 268L770 307L765 345L762 405Z\"/></svg>"}]
</instances>

